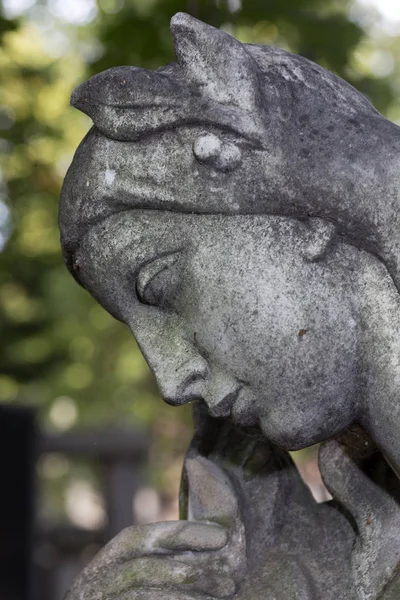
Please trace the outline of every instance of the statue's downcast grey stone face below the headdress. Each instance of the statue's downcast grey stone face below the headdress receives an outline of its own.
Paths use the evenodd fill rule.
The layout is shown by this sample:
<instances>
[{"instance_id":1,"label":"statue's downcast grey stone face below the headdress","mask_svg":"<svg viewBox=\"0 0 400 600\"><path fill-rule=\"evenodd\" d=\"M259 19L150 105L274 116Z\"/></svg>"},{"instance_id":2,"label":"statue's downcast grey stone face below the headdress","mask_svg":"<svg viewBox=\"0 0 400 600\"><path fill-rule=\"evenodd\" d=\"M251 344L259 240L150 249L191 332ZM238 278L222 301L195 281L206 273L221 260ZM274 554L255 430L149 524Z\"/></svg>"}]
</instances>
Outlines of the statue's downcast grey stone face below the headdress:
<instances>
[{"instance_id":1,"label":"statue's downcast grey stone face below the headdress","mask_svg":"<svg viewBox=\"0 0 400 600\"><path fill-rule=\"evenodd\" d=\"M362 253L336 244L314 261L319 237L281 217L136 210L93 227L75 264L131 328L168 403L203 398L295 449L350 424L357 400Z\"/></svg>"}]
</instances>

